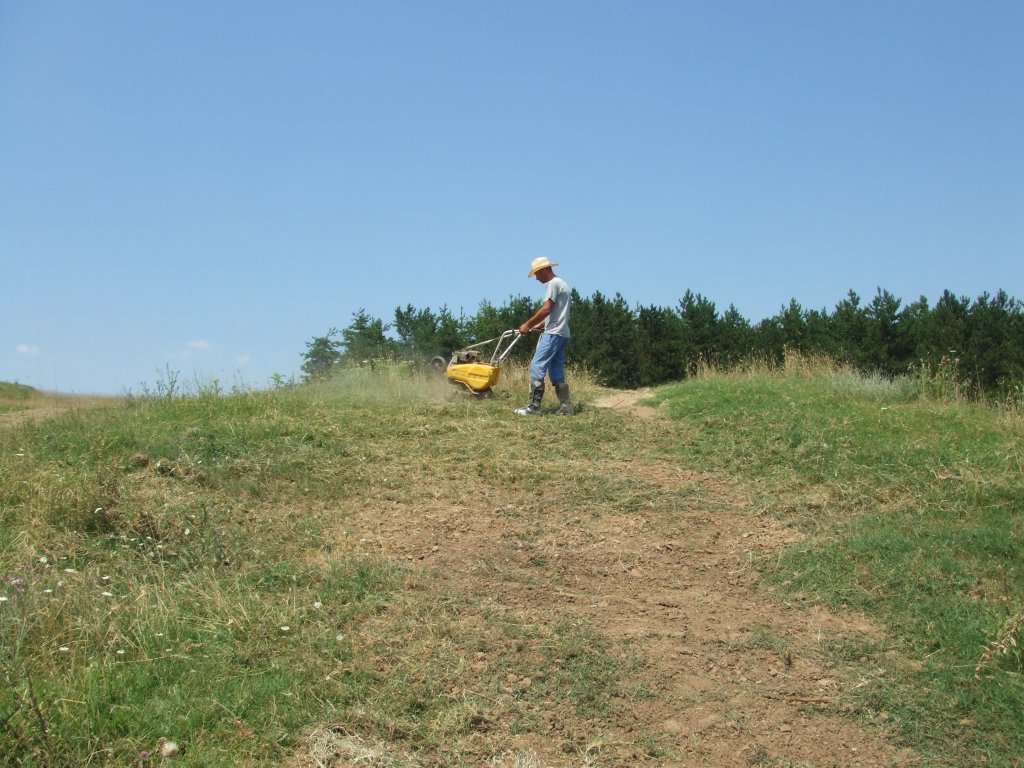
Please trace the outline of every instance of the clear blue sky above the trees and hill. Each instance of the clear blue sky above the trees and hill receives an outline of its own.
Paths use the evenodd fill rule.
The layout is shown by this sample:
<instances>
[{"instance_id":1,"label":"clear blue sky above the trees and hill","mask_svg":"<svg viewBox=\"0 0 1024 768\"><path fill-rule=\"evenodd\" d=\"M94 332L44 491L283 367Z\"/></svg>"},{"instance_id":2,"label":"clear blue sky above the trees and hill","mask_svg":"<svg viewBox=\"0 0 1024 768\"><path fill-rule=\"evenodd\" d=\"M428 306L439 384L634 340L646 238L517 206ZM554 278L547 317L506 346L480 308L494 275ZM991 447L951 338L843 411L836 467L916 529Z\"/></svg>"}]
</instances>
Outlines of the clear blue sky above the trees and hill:
<instances>
[{"instance_id":1,"label":"clear blue sky above the trees and hill","mask_svg":"<svg viewBox=\"0 0 1024 768\"><path fill-rule=\"evenodd\" d=\"M364 308L1024 299L1024 3L0 0L0 380L265 386ZM525 319L525 318L524 318Z\"/></svg>"}]
</instances>

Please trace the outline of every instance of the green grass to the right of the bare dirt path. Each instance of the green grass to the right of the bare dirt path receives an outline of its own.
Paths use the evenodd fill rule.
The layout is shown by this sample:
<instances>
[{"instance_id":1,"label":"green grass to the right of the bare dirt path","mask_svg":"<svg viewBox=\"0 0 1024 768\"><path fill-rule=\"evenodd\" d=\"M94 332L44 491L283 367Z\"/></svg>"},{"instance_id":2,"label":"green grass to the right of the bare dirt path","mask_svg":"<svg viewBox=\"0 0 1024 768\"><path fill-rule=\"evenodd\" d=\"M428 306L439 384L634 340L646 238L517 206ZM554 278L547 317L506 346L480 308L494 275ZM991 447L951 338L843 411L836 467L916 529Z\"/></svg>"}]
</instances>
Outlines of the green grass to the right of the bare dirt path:
<instances>
[{"instance_id":1,"label":"green grass to the right of the bare dirt path","mask_svg":"<svg viewBox=\"0 0 1024 768\"><path fill-rule=\"evenodd\" d=\"M841 663L865 659L865 718L886 713L937 764L1024 754L1019 654L974 680L1024 611L1019 411L830 366L708 375L657 399L683 427L680 456L727 467L808 534L764 563L766 582L886 628L884 647L834 649Z\"/></svg>"}]
</instances>

